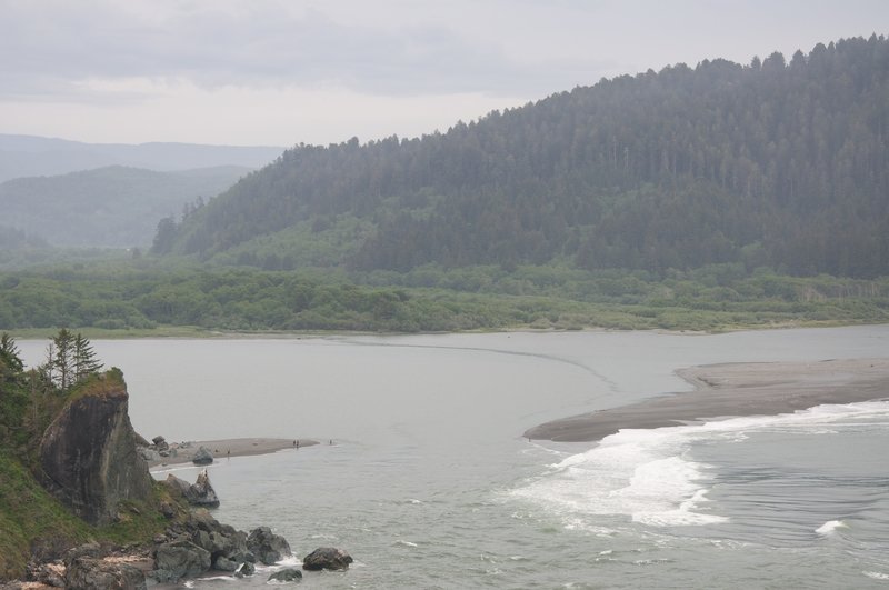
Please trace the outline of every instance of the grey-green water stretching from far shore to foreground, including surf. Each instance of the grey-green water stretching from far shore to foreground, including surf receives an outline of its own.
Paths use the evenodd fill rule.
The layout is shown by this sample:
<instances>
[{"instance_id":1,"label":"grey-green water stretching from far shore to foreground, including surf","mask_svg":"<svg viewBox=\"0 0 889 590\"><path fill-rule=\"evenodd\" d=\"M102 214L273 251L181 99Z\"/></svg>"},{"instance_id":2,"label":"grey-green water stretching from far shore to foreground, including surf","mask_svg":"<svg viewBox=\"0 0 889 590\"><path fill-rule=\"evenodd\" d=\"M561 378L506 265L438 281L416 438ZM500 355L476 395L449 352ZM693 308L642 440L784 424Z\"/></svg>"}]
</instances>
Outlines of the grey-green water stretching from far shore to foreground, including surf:
<instances>
[{"instance_id":1,"label":"grey-green water stretching from far shore to foreground, including surf","mask_svg":"<svg viewBox=\"0 0 889 590\"><path fill-rule=\"evenodd\" d=\"M889 402L530 442L547 420L680 392L679 368L889 356L889 326L100 340L147 438L314 438L209 468L302 588L889 588ZM44 343L20 342L29 363ZM887 392L889 397L889 392ZM158 469L197 478L198 470ZM190 588L260 588L210 577Z\"/></svg>"}]
</instances>

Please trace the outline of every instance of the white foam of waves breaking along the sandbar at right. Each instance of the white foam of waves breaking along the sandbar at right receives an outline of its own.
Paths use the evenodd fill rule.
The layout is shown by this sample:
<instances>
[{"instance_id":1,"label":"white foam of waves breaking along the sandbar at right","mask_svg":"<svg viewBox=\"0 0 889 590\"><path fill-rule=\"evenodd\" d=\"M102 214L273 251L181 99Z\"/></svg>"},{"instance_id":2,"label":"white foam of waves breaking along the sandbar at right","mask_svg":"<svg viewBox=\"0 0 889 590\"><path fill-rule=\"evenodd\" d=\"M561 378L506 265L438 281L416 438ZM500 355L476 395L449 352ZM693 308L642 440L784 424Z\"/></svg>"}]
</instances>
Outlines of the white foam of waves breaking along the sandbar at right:
<instances>
[{"instance_id":1,"label":"white foam of waves breaking along the sandbar at right","mask_svg":"<svg viewBox=\"0 0 889 590\"><path fill-rule=\"evenodd\" d=\"M595 514L628 516L652 527L701 526L727 520L709 512L710 466L691 461L688 450L703 441L743 444L749 432L802 431L829 436L836 424L889 417L889 402L826 404L792 414L750 416L696 426L621 430L593 449L549 466L548 472L511 493L556 512L563 526L591 528ZM825 428L827 424L835 428ZM838 526L819 528L827 534ZM826 528L827 527L827 528ZM821 531L825 529L825 532Z\"/></svg>"}]
</instances>

